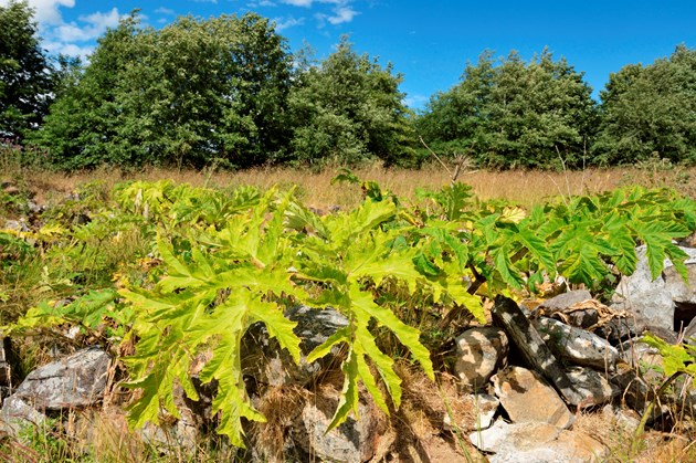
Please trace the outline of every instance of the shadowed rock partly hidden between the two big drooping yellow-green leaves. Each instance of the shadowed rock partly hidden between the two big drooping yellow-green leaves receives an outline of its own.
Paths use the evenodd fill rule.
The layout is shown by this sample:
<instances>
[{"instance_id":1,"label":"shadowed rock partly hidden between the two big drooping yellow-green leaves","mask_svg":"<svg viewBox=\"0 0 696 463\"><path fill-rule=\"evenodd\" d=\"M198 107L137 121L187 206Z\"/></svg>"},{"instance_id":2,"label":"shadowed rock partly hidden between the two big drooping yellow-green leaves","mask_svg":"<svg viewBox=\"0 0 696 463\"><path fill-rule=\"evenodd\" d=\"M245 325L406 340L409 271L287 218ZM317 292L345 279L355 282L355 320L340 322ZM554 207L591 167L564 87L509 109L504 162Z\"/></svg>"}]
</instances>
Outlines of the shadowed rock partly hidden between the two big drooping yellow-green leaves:
<instances>
[{"instance_id":1,"label":"shadowed rock partly hidden between the two big drooping yellow-green leaves","mask_svg":"<svg viewBox=\"0 0 696 463\"><path fill-rule=\"evenodd\" d=\"M310 308L307 306L291 307L285 316L297 322L295 335L300 338L302 359L299 365L282 349L275 338L262 324L250 328L242 340L242 370L252 383L270 386L302 385L306 386L321 369L330 364L333 357L327 356L307 364L306 356L329 336L348 325L348 318L333 308Z\"/></svg>"}]
</instances>

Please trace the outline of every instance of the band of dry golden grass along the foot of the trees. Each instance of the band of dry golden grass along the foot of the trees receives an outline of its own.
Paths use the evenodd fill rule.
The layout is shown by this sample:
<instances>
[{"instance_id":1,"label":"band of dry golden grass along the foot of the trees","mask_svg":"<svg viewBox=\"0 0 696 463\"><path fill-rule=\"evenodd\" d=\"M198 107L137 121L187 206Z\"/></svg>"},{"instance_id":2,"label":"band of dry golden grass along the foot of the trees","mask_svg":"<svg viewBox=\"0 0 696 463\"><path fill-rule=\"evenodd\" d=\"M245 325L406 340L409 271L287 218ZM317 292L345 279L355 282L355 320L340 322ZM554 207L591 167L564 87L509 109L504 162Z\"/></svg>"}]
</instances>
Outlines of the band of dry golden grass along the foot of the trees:
<instances>
[{"instance_id":1,"label":"band of dry golden grass along the foot of the trees","mask_svg":"<svg viewBox=\"0 0 696 463\"><path fill-rule=\"evenodd\" d=\"M331 204L350 208L361 199L360 188L348 185L331 185L336 169L315 172L292 168L256 168L238 172L193 171L148 168L143 171L122 171L102 168L88 172L63 175L56 172L0 172L0 180L23 177L36 193L41 203L53 194L60 197L77 186L92 181L104 182L105 189L125 180L164 180L188 182L193 186L236 187L252 185L262 189L278 185L282 188L297 186L298 194L308 204L325 208ZM359 178L377 181L383 190L399 197L413 199L416 188L440 189L450 183L450 175L437 165L420 170L384 169L375 164L355 169ZM696 167L658 170L650 167L588 169L572 172L544 171L487 171L463 172L458 180L471 185L481 199L505 199L523 206L544 202L552 196L573 196L611 190L622 185L640 183L648 187L675 187L696 198Z\"/></svg>"}]
</instances>

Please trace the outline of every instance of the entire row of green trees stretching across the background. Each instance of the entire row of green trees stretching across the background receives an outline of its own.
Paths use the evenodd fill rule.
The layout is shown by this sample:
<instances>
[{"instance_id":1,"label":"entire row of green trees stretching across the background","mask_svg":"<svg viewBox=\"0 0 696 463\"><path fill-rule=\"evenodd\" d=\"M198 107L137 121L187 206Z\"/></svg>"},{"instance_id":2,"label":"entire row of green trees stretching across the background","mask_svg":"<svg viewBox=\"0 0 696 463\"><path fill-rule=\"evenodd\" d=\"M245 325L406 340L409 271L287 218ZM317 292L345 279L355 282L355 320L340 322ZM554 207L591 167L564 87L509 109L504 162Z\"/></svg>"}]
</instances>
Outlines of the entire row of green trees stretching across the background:
<instances>
[{"instance_id":1,"label":"entire row of green trees stretching across the background","mask_svg":"<svg viewBox=\"0 0 696 463\"><path fill-rule=\"evenodd\" d=\"M418 166L423 145L500 169L696 164L696 50L686 45L611 74L600 102L548 50L529 61L485 51L418 114L402 80L345 36L323 61L291 53L255 13L157 30L134 11L84 64L48 55L25 1L0 7L0 136L60 169Z\"/></svg>"}]
</instances>

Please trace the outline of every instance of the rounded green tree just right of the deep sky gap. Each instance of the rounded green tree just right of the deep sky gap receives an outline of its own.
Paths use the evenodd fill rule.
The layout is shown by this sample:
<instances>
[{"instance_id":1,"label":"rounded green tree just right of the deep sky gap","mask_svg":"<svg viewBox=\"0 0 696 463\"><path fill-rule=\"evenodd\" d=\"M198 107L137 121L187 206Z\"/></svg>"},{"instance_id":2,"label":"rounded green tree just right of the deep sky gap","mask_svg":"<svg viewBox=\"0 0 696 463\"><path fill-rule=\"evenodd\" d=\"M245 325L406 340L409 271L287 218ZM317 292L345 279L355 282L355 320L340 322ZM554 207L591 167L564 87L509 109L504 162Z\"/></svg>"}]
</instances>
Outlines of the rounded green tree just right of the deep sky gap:
<instances>
[{"instance_id":1,"label":"rounded green tree just right of the deep sky gap","mask_svg":"<svg viewBox=\"0 0 696 463\"><path fill-rule=\"evenodd\" d=\"M472 155L496 168L582 162L595 123L591 88L565 59L545 50L529 63L516 52L484 52L462 81L434 95L416 122L436 150Z\"/></svg>"}]
</instances>

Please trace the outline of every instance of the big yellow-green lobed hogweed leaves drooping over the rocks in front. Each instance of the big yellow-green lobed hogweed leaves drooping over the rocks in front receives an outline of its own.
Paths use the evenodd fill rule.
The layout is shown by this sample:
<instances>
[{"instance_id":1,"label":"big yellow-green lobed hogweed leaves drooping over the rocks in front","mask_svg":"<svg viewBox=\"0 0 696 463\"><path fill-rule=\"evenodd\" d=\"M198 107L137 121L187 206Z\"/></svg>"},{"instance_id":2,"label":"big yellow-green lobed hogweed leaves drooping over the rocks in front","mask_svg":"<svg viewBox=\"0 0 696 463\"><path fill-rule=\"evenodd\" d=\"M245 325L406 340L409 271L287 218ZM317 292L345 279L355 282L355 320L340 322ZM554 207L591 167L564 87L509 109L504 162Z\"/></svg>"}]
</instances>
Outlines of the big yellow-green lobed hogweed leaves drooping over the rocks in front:
<instances>
[{"instance_id":1,"label":"big yellow-green lobed hogweed leaves drooping over the rocks in front","mask_svg":"<svg viewBox=\"0 0 696 463\"><path fill-rule=\"evenodd\" d=\"M393 404L400 404L401 380L393 359L377 345L375 326L391 330L434 379L420 333L378 305L375 288L389 278L402 282L409 292L426 288L436 301L449 297L466 304L473 298L454 275L449 281L426 278L416 264L418 246L394 244L408 232L407 225L394 225L398 215L394 202L369 200L350 213L318 218L299 206L292 192L277 198L272 190L220 229L192 228L179 238L190 243L187 259L176 255L171 242L160 235L159 254L167 274L151 290L122 291L138 314L133 326L139 338L136 354L124 359L133 378L127 386L143 390L130 410L134 424L157 423L160 407L179 415L172 397L175 381L198 400L189 371L196 355L209 350L212 359L200 380L217 380L213 411L221 413L219 432L243 445L242 419L264 418L253 409L244 389L242 337L261 322L298 361L300 340L281 303L288 298L334 307L349 320L307 357L314 361L336 345L347 346L341 367L344 391L330 428L342 423L350 412L357 414L360 382L384 412L389 407L379 380ZM483 312L476 315L483 318Z\"/></svg>"}]
</instances>

